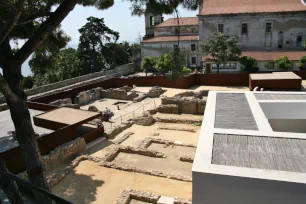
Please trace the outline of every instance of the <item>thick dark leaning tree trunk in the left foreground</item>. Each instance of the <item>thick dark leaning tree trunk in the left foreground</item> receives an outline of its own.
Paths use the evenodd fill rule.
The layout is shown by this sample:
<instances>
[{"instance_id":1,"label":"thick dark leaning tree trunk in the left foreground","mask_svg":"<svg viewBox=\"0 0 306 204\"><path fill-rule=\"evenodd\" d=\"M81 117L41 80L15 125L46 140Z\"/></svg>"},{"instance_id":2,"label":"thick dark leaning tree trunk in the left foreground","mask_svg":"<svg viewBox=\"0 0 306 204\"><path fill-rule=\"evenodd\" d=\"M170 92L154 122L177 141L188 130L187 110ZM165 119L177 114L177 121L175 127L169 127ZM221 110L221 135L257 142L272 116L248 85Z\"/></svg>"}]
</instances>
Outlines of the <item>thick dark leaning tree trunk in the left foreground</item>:
<instances>
[{"instance_id":1,"label":"thick dark leaning tree trunk in the left foreground","mask_svg":"<svg viewBox=\"0 0 306 204\"><path fill-rule=\"evenodd\" d=\"M6 102L11 111L16 138L22 149L22 157L29 180L32 184L50 191L45 179L45 168L41 162L41 155L32 127L30 112L26 104L27 96L22 87L21 66L10 65L3 70L3 76L11 92L10 97L6 97ZM6 94L4 95L6 96ZM34 195L39 203L52 203L49 199L38 193L34 193Z\"/></svg>"}]
</instances>

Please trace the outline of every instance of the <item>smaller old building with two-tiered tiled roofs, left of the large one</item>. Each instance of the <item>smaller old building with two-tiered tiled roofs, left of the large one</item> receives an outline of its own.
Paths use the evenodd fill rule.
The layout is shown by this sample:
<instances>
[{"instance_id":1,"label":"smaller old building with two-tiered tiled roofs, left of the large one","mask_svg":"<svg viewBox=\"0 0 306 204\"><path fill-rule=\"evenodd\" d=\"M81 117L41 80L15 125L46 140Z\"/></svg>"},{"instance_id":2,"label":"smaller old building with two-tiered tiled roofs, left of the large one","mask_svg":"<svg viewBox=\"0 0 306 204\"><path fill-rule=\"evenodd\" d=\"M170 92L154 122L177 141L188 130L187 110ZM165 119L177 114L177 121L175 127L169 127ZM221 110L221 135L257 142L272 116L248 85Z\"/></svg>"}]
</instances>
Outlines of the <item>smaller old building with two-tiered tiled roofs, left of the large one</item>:
<instances>
[{"instance_id":1,"label":"smaller old building with two-tiered tiled roofs, left of the large one","mask_svg":"<svg viewBox=\"0 0 306 204\"><path fill-rule=\"evenodd\" d=\"M146 28L150 27L152 19L159 18L146 16ZM150 20L148 20L150 19ZM161 17L161 19L163 19ZM149 23L149 25L147 25ZM199 54L198 18L188 17L170 18L164 22L153 25L146 29L146 35L141 42L141 56L158 57L166 53L172 53L180 45L180 50L186 57L186 66L195 68L201 65Z\"/></svg>"}]
</instances>

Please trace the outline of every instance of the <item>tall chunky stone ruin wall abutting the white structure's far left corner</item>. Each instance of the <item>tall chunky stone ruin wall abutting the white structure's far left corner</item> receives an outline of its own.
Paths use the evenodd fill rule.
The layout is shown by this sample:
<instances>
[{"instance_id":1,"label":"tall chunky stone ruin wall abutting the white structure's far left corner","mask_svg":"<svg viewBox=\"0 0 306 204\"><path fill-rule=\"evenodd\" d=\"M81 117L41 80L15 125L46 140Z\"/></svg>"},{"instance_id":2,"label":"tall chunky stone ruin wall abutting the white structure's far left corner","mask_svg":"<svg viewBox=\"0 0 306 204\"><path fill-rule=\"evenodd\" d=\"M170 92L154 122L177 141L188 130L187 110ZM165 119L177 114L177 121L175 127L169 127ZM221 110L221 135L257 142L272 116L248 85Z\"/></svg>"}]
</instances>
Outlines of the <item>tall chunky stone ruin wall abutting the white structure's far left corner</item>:
<instances>
[{"instance_id":1,"label":"tall chunky stone ruin wall abutting the white structure's far left corner","mask_svg":"<svg viewBox=\"0 0 306 204\"><path fill-rule=\"evenodd\" d=\"M163 97L157 112L170 114L203 115L206 106L208 91L187 91L174 97Z\"/></svg>"}]
</instances>

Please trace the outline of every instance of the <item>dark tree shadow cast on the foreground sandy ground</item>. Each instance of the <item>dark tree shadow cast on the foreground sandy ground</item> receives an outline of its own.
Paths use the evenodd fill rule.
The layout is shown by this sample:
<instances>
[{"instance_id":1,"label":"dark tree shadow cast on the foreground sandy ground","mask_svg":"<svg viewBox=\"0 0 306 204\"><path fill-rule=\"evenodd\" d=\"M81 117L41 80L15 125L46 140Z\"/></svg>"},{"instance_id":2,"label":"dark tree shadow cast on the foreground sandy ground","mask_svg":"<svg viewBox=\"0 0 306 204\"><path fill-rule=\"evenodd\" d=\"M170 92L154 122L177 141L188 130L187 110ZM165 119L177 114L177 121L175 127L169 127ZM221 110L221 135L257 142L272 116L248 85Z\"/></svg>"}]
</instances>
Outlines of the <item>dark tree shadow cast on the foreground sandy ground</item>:
<instances>
[{"instance_id":1,"label":"dark tree shadow cast on the foreground sandy ground","mask_svg":"<svg viewBox=\"0 0 306 204\"><path fill-rule=\"evenodd\" d=\"M52 191L75 204L92 203L96 201L97 189L104 184L103 180L94 180L92 177L93 175L87 176L73 172L67 175Z\"/></svg>"}]
</instances>

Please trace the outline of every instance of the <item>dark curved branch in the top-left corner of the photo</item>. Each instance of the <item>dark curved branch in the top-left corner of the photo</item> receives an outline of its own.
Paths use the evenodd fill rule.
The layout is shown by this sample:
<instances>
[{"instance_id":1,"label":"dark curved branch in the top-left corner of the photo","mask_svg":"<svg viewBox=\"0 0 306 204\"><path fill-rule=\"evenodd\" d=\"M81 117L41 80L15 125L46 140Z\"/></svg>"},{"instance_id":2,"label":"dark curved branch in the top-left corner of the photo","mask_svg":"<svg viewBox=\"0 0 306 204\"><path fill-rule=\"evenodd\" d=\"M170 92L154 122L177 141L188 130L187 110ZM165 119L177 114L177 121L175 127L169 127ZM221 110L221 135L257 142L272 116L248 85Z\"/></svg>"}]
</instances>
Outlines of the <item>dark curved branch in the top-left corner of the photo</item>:
<instances>
[{"instance_id":1,"label":"dark curved branch in the top-left corner of the photo","mask_svg":"<svg viewBox=\"0 0 306 204\"><path fill-rule=\"evenodd\" d=\"M15 12L12 13L12 17L0 28L0 46L3 43L3 41L8 37L12 29L17 24L20 15L21 15L21 9L24 5L25 0L19 0Z\"/></svg>"}]
</instances>

